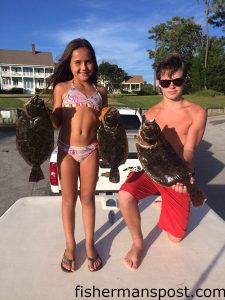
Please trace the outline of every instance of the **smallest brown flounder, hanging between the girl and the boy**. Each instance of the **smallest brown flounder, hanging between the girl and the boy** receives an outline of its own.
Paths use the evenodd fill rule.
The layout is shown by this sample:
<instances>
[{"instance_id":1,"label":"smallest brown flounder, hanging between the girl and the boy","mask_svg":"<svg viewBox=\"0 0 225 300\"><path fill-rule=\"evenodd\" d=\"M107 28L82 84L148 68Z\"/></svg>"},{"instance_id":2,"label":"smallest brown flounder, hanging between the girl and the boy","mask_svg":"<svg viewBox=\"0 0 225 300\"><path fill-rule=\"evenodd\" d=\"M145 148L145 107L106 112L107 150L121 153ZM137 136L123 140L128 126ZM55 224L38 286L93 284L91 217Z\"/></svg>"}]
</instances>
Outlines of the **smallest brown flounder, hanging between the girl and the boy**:
<instances>
[{"instance_id":1,"label":"smallest brown flounder, hanging between the girl and the boy","mask_svg":"<svg viewBox=\"0 0 225 300\"><path fill-rule=\"evenodd\" d=\"M117 108L110 107L101 118L98 130L99 154L105 165L110 167L109 181L120 181L118 167L128 156L128 141Z\"/></svg>"}]
</instances>

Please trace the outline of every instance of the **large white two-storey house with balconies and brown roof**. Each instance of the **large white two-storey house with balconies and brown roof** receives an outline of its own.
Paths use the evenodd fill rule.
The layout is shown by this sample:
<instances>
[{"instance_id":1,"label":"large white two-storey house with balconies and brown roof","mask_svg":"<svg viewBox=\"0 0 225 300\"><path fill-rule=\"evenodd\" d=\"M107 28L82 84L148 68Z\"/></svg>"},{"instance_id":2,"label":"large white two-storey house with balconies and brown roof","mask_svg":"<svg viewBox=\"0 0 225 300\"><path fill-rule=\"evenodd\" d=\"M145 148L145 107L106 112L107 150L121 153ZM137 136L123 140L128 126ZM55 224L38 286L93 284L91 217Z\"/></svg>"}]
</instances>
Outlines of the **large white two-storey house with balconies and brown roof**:
<instances>
[{"instance_id":1,"label":"large white two-storey house with balconies and brown roof","mask_svg":"<svg viewBox=\"0 0 225 300\"><path fill-rule=\"evenodd\" d=\"M23 88L34 94L36 89L46 87L46 78L53 73L54 61L51 52L0 49L0 88L10 90Z\"/></svg>"}]
</instances>

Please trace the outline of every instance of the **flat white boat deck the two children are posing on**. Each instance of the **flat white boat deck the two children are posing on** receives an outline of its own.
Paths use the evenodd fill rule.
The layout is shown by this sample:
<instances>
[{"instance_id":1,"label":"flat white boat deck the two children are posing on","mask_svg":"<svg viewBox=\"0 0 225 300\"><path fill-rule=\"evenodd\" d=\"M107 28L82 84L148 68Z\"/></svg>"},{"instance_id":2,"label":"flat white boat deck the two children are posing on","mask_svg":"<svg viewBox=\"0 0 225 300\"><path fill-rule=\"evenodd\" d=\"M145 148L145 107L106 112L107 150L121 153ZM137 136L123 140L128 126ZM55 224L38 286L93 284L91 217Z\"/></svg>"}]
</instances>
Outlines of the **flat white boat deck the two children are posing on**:
<instances>
[{"instance_id":1,"label":"flat white boat deck the two children are posing on","mask_svg":"<svg viewBox=\"0 0 225 300\"><path fill-rule=\"evenodd\" d=\"M87 269L79 201L77 271L64 273L61 197L19 199L0 218L0 299L224 299L225 222L206 204L192 208L187 235L174 244L156 226L153 199L140 204L145 250L132 272L123 264L131 240L121 214L115 210L110 224L96 197L95 240L104 266L94 273Z\"/></svg>"}]
</instances>

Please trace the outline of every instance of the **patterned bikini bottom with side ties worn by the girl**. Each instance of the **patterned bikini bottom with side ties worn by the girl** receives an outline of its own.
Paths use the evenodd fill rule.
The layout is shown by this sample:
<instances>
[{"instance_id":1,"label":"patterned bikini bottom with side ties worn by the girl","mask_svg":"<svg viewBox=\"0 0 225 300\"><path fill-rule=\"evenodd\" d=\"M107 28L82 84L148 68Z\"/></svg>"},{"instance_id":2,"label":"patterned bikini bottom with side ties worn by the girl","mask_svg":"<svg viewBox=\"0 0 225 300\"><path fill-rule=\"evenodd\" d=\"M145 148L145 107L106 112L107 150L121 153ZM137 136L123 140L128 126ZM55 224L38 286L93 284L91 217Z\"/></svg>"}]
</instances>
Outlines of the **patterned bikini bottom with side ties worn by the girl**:
<instances>
[{"instance_id":1,"label":"patterned bikini bottom with side ties worn by the girl","mask_svg":"<svg viewBox=\"0 0 225 300\"><path fill-rule=\"evenodd\" d=\"M71 155L77 162L80 162L98 148L98 142L94 142L88 146L76 147L64 144L62 141L58 140L58 147Z\"/></svg>"}]
</instances>

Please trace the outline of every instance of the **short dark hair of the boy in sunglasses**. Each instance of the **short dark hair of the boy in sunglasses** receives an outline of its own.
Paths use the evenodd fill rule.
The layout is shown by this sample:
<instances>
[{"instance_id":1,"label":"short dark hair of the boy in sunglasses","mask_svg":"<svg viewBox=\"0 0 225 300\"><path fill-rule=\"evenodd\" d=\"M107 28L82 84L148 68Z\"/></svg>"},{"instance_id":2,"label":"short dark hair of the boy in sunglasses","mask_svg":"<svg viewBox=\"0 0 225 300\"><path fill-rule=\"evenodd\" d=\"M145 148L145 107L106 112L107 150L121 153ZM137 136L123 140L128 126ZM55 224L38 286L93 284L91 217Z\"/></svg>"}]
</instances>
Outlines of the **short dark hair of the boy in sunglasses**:
<instances>
[{"instance_id":1,"label":"short dark hair of the boy in sunglasses","mask_svg":"<svg viewBox=\"0 0 225 300\"><path fill-rule=\"evenodd\" d=\"M183 76L187 76L185 65L180 55L177 53L169 54L163 60L161 60L156 67L156 79L160 80L161 75L168 72L169 77L177 72L178 70L183 71Z\"/></svg>"}]
</instances>

